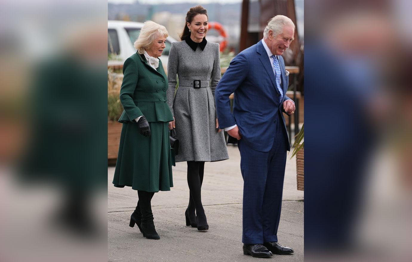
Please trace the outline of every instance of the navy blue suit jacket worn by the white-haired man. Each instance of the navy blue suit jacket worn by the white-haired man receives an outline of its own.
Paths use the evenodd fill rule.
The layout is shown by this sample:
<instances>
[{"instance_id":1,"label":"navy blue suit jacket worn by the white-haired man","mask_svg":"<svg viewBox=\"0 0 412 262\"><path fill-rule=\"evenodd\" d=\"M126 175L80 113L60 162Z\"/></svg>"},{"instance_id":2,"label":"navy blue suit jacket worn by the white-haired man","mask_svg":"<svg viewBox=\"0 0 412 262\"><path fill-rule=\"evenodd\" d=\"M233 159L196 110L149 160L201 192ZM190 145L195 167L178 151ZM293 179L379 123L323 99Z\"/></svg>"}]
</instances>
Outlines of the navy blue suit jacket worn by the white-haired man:
<instances>
[{"instance_id":1,"label":"navy blue suit jacket worn by the white-haired man","mask_svg":"<svg viewBox=\"0 0 412 262\"><path fill-rule=\"evenodd\" d=\"M279 56L283 94L289 79L285 74L285 62ZM230 112L229 95L234 92L233 115ZM283 96L283 101L290 99ZM215 90L216 112L219 128L237 124L242 140L257 151L268 152L276 136L276 125L282 121L284 136L290 150L283 117L283 101L276 87L271 62L262 41L236 55L222 76ZM281 116L281 117L279 117ZM282 132L279 132L282 133ZM276 138L277 139L277 138Z\"/></svg>"}]
</instances>

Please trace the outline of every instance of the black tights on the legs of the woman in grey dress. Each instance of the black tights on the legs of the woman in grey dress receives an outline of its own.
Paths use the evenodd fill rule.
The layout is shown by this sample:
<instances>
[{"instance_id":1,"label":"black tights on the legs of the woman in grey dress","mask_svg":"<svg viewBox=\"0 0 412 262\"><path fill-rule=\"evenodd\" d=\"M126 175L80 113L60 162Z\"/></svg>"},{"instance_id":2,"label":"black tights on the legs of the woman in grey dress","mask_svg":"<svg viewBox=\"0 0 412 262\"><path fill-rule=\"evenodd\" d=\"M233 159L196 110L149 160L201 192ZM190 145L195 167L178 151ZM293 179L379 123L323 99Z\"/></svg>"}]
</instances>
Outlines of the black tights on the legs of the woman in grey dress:
<instances>
[{"instance_id":1,"label":"black tights on the legs of the woman in grey dress","mask_svg":"<svg viewBox=\"0 0 412 262\"><path fill-rule=\"evenodd\" d=\"M196 215L199 216L199 222L206 223L206 216L204 215L204 209L201 200L201 186L203 182L205 162L199 161L187 161L187 184L190 189L189 205L187 206L187 211L190 216L191 221L194 219L194 211L196 210Z\"/></svg>"}]
</instances>

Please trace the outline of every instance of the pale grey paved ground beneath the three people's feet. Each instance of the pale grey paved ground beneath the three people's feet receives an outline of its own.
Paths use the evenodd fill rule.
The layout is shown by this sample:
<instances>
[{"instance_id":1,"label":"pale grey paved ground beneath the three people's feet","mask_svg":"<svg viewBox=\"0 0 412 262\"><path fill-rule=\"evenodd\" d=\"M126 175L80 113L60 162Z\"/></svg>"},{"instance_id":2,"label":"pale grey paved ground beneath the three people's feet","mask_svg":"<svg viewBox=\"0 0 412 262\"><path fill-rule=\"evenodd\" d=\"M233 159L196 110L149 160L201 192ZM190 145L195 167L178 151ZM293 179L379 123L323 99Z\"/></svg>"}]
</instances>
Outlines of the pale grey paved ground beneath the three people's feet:
<instances>
[{"instance_id":1,"label":"pale grey paved ground beneath the three people's feet","mask_svg":"<svg viewBox=\"0 0 412 262\"><path fill-rule=\"evenodd\" d=\"M185 225L185 209L189 199L186 180L187 165L173 167L171 191L156 193L152 200L153 215L159 240L143 237L137 226L129 227L130 215L136 207L137 191L130 187L115 188L115 168L108 168L108 261L139 262L221 262L259 261L243 255L242 188L240 155L229 145L229 160L206 163L202 186L202 202L209 231L198 232ZM295 159L286 163L285 184L279 243L294 248L292 255L273 255L273 261L303 261L303 191L296 189ZM268 259L268 260L269 260Z\"/></svg>"}]
</instances>

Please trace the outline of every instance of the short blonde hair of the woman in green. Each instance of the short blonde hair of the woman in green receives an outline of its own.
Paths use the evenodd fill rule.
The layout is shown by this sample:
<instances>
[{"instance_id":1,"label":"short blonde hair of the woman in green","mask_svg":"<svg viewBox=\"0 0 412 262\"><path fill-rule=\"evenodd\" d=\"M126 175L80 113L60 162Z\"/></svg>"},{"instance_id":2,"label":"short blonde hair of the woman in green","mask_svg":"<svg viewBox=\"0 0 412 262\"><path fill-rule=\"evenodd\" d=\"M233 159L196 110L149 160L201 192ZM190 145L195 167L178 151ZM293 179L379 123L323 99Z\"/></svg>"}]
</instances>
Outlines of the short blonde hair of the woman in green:
<instances>
[{"instance_id":1,"label":"short blonde hair of the woman in green","mask_svg":"<svg viewBox=\"0 0 412 262\"><path fill-rule=\"evenodd\" d=\"M145 49L152 46L156 35L168 37L169 32L167 32L163 25L159 25L153 21L146 21L145 25L143 25L142 29L140 29L139 37L134 42L134 48L136 48L139 54L143 54Z\"/></svg>"}]
</instances>

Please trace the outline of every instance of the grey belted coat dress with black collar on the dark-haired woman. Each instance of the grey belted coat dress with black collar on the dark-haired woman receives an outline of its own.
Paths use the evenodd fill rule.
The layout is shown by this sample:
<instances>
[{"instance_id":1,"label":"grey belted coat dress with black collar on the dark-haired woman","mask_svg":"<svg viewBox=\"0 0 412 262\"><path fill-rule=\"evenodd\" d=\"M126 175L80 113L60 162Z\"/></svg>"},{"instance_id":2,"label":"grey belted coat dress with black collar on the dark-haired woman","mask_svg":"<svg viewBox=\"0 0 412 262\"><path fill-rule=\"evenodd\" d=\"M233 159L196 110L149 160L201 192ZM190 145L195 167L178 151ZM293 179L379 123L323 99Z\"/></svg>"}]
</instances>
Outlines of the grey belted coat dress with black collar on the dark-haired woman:
<instances>
[{"instance_id":1,"label":"grey belted coat dress with black collar on the dark-haired woman","mask_svg":"<svg viewBox=\"0 0 412 262\"><path fill-rule=\"evenodd\" d=\"M191 40L172 43L167 66L167 103L175 117L180 142L175 161L229 159L223 131L218 133L216 129L215 88L221 77L219 44L204 39L206 45L199 44L193 51L187 41ZM179 86L175 95L176 74Z\"/></svg>"}]
</instances>

